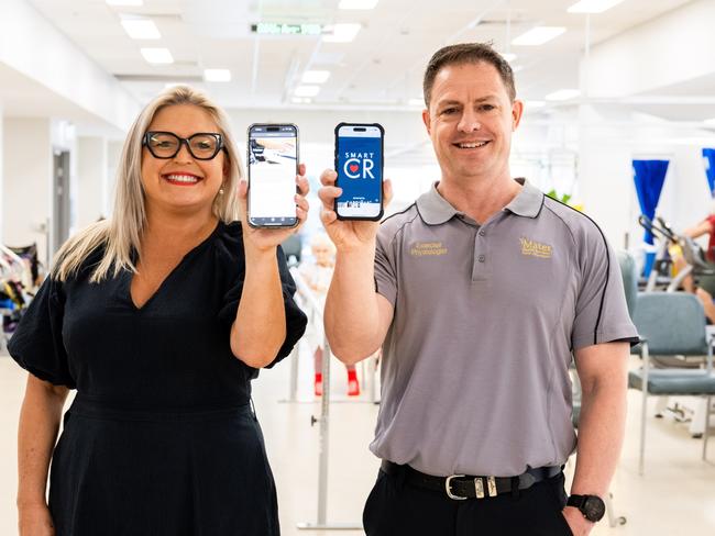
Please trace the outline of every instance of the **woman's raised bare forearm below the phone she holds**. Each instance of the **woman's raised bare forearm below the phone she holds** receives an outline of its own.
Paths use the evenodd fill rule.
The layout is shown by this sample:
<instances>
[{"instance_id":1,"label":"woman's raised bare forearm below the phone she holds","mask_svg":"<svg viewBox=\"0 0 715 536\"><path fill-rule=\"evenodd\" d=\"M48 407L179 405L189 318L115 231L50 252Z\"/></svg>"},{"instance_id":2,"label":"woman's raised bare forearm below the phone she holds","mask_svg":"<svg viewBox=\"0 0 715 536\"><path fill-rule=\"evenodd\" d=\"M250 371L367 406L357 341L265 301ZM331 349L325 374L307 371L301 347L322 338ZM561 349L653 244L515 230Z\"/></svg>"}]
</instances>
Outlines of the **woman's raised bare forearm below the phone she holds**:
<instances>
[{"instance_id":1,"label":"woman's raised bare forearm below the phone she holds","mask_svg":"<svg viewBox=\"0 0 715 536\"><path fill-rule=\"evenodd\" d=\"M245 278L231 349L246 365L261 368L278 354L286 338L283 287L275 248L245 250Z\"/></svg>"}]
</instances>

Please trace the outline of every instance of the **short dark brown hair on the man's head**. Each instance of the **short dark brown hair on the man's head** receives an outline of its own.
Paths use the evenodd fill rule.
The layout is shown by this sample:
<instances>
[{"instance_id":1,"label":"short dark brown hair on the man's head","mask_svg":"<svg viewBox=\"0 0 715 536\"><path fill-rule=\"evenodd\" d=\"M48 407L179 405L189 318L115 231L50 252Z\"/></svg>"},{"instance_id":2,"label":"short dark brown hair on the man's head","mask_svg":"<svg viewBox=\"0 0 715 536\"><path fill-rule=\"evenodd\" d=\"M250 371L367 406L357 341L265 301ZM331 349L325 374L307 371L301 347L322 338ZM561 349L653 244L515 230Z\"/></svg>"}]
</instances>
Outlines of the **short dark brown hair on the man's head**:
<instances>
[{"instance_id":1,"label":"short dark brown hair on the man's head","mask_svg":"<svg viewBox=\"0 0 715 536\"><path fill-rule=\"evenodd\" d=\"M437 74L443 67L448 65L477 64L480 62L494 66L499 77L502 77L509 99L514 102L514 99L516 99L516 87L514 85L514 71L509 63L492 48L490 43L460 43L459 45L449 45L440 48L427 64L425 79L422 81L425 105L429 108L435 77L437 77Z\"/></svg>"}]
</instances>

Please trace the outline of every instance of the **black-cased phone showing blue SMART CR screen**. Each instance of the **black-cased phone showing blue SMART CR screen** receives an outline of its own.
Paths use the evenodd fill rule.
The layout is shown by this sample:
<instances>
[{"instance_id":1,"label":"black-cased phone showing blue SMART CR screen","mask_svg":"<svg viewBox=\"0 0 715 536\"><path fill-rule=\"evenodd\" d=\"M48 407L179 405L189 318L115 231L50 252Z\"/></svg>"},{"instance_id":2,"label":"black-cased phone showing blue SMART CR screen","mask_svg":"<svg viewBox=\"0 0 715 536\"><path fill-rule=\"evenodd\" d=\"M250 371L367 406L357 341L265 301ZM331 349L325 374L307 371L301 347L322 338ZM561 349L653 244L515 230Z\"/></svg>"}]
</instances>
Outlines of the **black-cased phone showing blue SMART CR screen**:
<instances>
[{"instance_id":1,"label":"black-cased phone showing blue SMART CR screen","mask_svg":"<svg viewBox=\"0 0 715 536\"><path fill-rule=\"evenodd\" d=\"M339 217L376 220L383 211L383 129L339 125L336 139L336 201Z\"/></svg>"}]
</instances>

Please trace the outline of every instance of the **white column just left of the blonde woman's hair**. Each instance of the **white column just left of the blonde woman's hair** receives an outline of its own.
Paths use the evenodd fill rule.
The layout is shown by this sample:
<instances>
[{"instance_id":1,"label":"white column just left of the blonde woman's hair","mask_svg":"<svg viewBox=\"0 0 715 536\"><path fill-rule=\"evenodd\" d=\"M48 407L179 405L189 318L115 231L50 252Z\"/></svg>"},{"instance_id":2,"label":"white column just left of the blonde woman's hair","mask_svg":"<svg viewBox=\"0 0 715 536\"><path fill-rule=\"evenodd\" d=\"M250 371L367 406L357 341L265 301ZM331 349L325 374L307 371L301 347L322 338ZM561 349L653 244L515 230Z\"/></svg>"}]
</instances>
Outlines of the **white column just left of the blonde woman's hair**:
<instances>
[{"instance_id":1,"label":"white column just left of the blonde woman's hair","mask_svg":"<svg viewBox=\"0 0 715 536\"><path fill-rule=\"evenodd\" d=\"M103 137L80 136L77 143L77 220L80 230L99 217L107 217L105 189L107 187L107 141Z\"/></svg>"}]
</instances>

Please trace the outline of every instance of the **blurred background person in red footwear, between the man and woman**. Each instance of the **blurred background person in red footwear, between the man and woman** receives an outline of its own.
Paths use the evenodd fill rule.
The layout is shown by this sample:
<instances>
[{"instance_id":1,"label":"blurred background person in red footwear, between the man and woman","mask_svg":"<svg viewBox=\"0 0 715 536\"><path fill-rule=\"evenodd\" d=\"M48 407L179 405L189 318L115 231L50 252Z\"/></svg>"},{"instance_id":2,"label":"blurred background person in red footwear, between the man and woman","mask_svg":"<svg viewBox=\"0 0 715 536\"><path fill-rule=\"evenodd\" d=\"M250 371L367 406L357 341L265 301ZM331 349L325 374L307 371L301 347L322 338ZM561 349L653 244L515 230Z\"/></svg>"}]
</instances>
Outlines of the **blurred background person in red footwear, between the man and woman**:
<instances>
[{"instance_id":1,"label":"blurred background person in red footwear, between the man and woman","mask_svg":"<svg viewBox=\"0 0 715 536\"><path fill-rule=\"evenodd\" d=\"M315 261L305 261L300 264L300 275L306 280L310 290L321 308L326 306L326 297L330 288L332 272L336 267L336 246L330 238L323 233L317 234L310 241L310 250ZM314 351L315 362L315 381L314 392L316 397L322 395L322 355L324 332L322 326L322 314L320 311L310 309L308 328L306 330L306 340ZM358 397L360 394L360 383L355 372L354 365L346 365L348 369L348 394Z\"/></svg>"}]
</instances>

